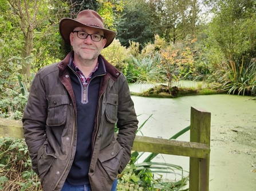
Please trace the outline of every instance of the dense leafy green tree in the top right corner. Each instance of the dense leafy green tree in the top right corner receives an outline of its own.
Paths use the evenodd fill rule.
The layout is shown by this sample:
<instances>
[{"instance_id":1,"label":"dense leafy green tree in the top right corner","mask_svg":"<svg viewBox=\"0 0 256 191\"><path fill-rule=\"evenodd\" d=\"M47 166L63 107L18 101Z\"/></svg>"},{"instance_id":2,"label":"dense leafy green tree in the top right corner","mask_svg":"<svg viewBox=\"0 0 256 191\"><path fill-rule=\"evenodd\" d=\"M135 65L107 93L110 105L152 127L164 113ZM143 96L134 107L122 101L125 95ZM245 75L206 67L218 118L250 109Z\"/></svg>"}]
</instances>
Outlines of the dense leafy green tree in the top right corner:
<instances>
[{"instance_id":1,"label":"dense leafy green tree in the top right corner","mask_svg":"<svg viewBox=\"0 0 256 191\"><path fill-rule=\"evenodd\" d=\"M256 57L255 6L254 0L207 1L214 3L212 13L215 17L210 23L208 35L212 35L226 60L248 66L251 58Z\"/></svg>"}]
</instances>

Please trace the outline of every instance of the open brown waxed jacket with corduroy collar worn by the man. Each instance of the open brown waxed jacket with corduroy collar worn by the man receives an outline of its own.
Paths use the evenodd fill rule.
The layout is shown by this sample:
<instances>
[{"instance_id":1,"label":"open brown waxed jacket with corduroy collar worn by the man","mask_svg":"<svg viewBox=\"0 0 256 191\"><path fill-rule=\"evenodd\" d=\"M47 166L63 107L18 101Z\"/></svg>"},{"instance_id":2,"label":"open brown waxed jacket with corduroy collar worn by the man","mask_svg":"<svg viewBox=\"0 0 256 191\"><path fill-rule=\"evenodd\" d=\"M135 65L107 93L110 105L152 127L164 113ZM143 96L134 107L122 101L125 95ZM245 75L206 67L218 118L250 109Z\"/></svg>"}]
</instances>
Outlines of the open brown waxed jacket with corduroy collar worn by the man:
<instances>
[{"instance_id":1,"label":"open brown waxed jacket with corduroy collar worn by the man","mask_svg":"<svg viewBox=\"0 0 256 191\"><path fill-rule=\"evenodd\" d=\"M61 190L76 152L77 110L67 68L72 54L37 72L22 119L32 168L40 176L44 191ZM103 56L99 59L104 61L106 74L100 83L92 137L92 191L111 190L117 174L131 158L138 124L125 76Z\"/></svg>"}]
</instances>

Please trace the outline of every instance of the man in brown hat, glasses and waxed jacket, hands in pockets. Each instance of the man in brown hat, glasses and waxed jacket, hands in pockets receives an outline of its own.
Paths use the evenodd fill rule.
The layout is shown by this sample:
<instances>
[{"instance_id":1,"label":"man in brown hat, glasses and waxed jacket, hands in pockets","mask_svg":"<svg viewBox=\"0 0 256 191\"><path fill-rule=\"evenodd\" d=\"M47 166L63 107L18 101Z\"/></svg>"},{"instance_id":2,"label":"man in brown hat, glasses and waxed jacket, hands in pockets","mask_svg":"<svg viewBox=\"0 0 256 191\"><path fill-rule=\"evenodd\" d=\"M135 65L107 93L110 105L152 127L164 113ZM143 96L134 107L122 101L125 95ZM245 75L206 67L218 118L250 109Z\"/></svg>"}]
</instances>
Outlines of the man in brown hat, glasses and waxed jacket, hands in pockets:
<instances>
[{"instance_id":1,"label":"man in brown hat, glasses and waxed jacket, hands in pockets","mask_svg":"<svg viewBox=\"0 0 256 191\"><path fill-rule=\"evenodd\" d=\"M32 168L44 191L116 190L138 123L125 76L100 55L116 32L84 10L60 34L73 51L37 72L22 119Z\"/></svg>"}]
</instances>

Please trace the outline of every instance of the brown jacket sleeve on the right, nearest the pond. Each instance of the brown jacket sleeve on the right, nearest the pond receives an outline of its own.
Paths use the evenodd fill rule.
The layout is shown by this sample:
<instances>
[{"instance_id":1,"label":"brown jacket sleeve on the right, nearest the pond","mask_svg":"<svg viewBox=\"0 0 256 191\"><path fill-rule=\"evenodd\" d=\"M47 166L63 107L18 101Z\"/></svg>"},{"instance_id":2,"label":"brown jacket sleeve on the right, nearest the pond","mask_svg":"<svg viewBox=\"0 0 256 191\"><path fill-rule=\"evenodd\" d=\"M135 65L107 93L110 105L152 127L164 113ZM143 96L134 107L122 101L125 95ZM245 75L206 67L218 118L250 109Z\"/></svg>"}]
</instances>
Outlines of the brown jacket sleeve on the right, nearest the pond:
<instances>
[{"instance_id":1,"label":"brown jacket sleeve on the right, nearest the pond","mask_svg":"<svg viewBox=\"0 0 256 191\"><path fill-rule=\"evenodd\" d=\"M125 76L120 77L123 77L124 81L120 84L121 86L119 88L119 106L117 111L117 128L119 128L117 141L121 147L123 147L123 160L121 161L119 173L124 170L125 166L131 159L132 145L135 139L138 127L137 125L139 123L129 92L127 80L125 79Z\"/></svg>"}]
</instances>

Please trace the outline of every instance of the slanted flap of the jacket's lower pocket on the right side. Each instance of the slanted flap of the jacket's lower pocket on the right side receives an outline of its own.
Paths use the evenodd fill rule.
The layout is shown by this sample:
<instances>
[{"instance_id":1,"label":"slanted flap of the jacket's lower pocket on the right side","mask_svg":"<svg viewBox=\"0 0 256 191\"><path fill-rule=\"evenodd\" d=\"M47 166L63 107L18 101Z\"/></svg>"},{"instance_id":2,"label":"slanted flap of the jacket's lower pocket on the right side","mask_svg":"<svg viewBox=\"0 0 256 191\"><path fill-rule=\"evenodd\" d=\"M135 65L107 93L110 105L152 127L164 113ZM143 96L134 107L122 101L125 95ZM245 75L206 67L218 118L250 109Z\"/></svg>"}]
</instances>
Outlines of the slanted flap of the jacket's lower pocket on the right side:
<instances>
[{"instance_id":1,"label":"slanted flap of the jacket's lower pocket on the right side","mask_svg":"<svg viewBox=\"0 0 256 191\"><path fill-rule=\"evenodd\" d=\"M121 145L117 141L114 141L112 144L108 145L108 147L100 151L99 160L101 162L110 160L113 157L116 157L121 149L123 149Z\"/></svg>"}]
</instances>

